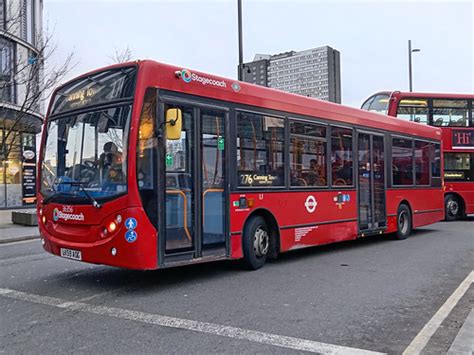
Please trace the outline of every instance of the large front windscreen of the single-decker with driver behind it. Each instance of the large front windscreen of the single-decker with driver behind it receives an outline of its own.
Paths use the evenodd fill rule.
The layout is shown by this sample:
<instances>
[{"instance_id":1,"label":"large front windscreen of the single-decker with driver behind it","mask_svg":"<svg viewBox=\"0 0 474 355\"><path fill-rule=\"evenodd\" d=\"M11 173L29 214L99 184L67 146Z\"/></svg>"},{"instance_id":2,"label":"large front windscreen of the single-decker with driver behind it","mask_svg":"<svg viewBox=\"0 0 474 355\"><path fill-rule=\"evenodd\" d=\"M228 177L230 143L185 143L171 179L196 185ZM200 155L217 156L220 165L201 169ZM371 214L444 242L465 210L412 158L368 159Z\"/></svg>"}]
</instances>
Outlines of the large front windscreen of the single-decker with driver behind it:
<instances>
[{"instance_id":1,"label":"large front windscreen of the single-decker with driver behind it","mask_svg":"<svg viewBox=\"0 0 474 355\"><path fill-rule=\"evenodd\" d=\"M41 193L49 200L110 198L127 191L131 105L52 119L41 166Z\"/></svg>"}]
</instances>

